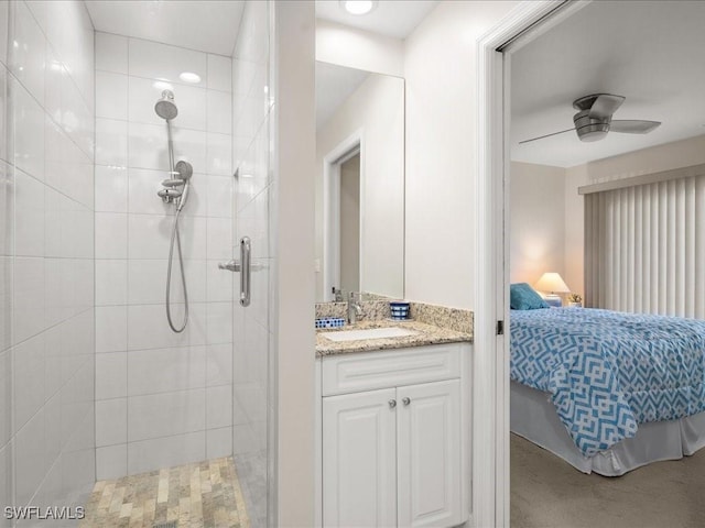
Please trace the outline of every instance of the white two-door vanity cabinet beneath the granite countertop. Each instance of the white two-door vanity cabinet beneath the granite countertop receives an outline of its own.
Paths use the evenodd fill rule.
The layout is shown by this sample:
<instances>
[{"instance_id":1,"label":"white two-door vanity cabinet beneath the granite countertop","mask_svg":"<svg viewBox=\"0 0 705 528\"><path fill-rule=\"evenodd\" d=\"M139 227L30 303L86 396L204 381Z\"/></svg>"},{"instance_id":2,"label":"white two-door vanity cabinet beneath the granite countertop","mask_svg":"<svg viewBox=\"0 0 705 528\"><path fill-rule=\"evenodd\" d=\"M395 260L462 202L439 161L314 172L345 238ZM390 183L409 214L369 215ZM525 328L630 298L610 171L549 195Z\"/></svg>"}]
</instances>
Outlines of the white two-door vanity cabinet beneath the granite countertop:
<instances>
[{"instance_id":1,"label":"white two-door vanity cabinet beneath the granite countertop","mask_svg":"<svg viewBox=\"0 0 705 528\"><path fill-rule=\"evenodd\" d=\"M324 527L466 520L462 353L449 343L322 361Z\"/></svg>"}]
</instances>

